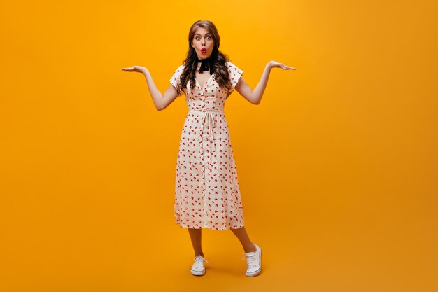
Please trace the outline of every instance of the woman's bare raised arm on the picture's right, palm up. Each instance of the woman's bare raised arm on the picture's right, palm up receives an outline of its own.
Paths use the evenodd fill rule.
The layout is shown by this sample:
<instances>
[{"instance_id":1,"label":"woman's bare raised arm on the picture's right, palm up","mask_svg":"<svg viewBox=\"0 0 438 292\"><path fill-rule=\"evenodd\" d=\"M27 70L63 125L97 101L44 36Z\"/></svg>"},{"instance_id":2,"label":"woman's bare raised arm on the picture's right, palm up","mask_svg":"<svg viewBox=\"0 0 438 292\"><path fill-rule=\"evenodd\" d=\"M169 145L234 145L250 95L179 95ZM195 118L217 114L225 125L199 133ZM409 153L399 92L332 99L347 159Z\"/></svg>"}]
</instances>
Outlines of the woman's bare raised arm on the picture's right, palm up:
<instances>
[{"instance_id":1,"label":"woman's bare raised arm on the picture's right, palm up","mask_svg":"<svg viewBox=\"0 0 438 292\"><path fill-rule=\"evenodd\" d=\"M243 79L243 76L239 79L239 82L236 84L235 89L239 94L243 97L245 97L248 102L251 104L260 104L260 101L262 100L263 92L266 89L266 85L268 83L269 74L271 73L271 69L274 67L280 67L285 70L293 69L296 70L294 67L286 66L285 64L281 64L275 61L269 62L265 67L262 74L262 78L260 78L259 83L257 86L252 90L249 85L246 83L245 79Z\"/></svg>"}]
</instances>

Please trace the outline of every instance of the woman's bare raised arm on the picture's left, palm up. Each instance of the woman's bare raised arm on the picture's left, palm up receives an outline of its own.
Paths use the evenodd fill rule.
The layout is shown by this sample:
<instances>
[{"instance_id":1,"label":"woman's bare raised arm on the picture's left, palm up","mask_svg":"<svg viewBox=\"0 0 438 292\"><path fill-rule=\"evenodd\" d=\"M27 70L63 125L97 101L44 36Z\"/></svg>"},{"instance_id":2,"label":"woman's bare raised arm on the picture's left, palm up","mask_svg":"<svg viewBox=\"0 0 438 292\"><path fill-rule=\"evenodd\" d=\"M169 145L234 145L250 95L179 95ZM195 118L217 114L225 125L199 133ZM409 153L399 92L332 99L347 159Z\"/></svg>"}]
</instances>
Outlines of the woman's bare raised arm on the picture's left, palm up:
<instances>
[{"instance_id":1,"label":"woman's bare raised arm on the picture's left, palm up","mask_svg":"<svg viewBox=\"0 0 438 292\"><path fill-rule=\"evenodd\" d=\"M163 109L166 109L167 106L169 106L169 104L171 104L176 99L176 97L178 97L176 88L174 88L173 85L169 85L169 87L164 92L164 94L162 94L160 90L158 90L157 86L155 85L152 76L150 76L149 70L145 67L134 66L129 68L123 68L122 70L143 73L143 75L146 78L146 83L148 83L150 96L152 97L152 100L155 104L155 108L158 111L162 111Z\"/></svg>"}]
</instances>

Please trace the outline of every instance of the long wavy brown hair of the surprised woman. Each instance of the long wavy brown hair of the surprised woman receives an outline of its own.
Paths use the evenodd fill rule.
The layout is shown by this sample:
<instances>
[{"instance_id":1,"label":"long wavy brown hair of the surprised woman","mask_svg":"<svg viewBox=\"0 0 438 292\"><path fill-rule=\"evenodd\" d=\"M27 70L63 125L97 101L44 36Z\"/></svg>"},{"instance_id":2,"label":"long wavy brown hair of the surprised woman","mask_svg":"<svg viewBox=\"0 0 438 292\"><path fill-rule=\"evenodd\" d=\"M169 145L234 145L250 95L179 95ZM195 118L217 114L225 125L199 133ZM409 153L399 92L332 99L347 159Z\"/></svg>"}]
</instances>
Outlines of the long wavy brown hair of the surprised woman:
<instances>
[{"instance_id":1,"label":"long wavy brown hair of the surprised woman","mask_svg":"<svg viewBox=\"0 0 438 292\"><path fill-rule=\"evenodd\" d=\"M211 65L213 66L215 81L220 87L225 88L226 90L229 90L231 88L231 81L229 81L229 72L227 69L227 64L225 63L229 61L229 58L227 55L219 50L220 36L218 34L218 29L216 29L216 26L213 24L213 22L209 20L198 20L192 25L192 27L190 27L188 39L189 49L187 57L183 61L184 69L180 77L181 83L178 85L178 88L176 88L178 95L181 95L181 93L183 92L183 88L185 88L185 85L188 83L188 81L190 81L191 89L195 88L196 85L195 74L198 65L197 54L195 48L193 48L191 45L198 27L202 27L208 30L211 34L211 37L213 38L214 46L213 52L211 52Z\"/></svg>"}]
</instances>

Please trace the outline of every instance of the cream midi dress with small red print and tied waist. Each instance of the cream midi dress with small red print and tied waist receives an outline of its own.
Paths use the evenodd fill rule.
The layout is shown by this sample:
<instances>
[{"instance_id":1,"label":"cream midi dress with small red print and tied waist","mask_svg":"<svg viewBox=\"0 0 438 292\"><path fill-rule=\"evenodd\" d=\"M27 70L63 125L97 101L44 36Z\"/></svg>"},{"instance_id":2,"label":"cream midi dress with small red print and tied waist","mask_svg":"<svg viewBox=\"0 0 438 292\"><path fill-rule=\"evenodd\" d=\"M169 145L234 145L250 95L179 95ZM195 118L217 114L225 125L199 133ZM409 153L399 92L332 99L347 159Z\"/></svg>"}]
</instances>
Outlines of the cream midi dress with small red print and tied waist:
<instances>
[{"instance_id":1,"label":"cream midi dress with small red print and tied waist","mask_svg":"<svg viewBox=\"0 0 438 292\"><path fill-rule=\"evenodd\" d=\"M213 73L205 84L190 81L183 89L188 114L176 161L175 223L183 228L226 230L243 227L242 200L236 164L225 119L225 100L243 71L226 63L232 88L220 88ZM180 83L184 65L170 78Z\"/></svg>"}]
</instances>

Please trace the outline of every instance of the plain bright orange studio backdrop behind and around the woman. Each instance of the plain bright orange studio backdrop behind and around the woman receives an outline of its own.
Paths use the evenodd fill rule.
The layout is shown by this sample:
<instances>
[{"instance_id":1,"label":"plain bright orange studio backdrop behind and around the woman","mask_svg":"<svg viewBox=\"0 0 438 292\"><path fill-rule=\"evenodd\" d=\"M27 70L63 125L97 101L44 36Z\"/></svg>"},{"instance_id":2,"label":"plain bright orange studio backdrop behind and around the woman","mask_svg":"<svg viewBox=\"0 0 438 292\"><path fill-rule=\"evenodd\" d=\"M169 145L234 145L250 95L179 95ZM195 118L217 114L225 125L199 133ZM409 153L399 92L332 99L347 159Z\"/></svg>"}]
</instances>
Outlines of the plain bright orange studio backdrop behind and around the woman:
<instances>
[{"instance_id":1,"label":"plain bright orange studio backdrop behind and around the woman","mask_svg":"<svg viewBox=\"0 0 438 292\"><path fill-rule=\"evenodd\" d=\"M437 291L435 1L2 2L0 290ZM178 97L156 111L211 20L255 88L234 93L245 277L232 232L174 224Z\"/></svg>"}]
</instances>

